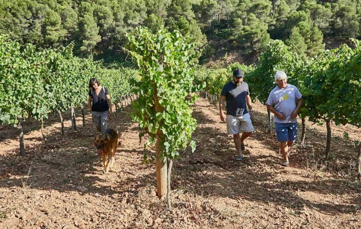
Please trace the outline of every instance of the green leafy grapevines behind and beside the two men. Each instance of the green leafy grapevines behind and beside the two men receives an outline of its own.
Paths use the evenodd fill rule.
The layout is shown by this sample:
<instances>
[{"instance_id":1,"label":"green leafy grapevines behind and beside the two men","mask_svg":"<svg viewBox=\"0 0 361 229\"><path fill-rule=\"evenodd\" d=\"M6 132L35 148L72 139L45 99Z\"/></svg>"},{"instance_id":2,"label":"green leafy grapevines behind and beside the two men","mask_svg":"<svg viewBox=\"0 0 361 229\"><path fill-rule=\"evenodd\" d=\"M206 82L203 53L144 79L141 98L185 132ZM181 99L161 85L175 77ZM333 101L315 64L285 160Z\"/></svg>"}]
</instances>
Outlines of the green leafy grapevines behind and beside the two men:
<instances>
[{"instance_id":1,"label":"green leafy grapevines behind and beside the two men","mask_svg":"<svg viewBox=\"0 0 361 229\"><path fill-rule=\"evenodd\" d=\"M219 99L225 83L232 79L232 69L241 68L249 84L251 98L265 104L269 92L276 86L274 74L284 71L287 83L296 86L303 95L300 111L304 118L315 123L326 123L326 159L330 149L331 127L335 124L361 126L361 45L352 40L352 46L342 45L304 59L290 51L282 41L271 41L256 65L234 63L224 69L198 69L196 81L207 82L205 91L215 101ZM271 120L269 113L269 120ZM270 125L270 131L272 126ZM302 141L305 127L302 128ZM359 141L355 141L358 144Z\"/></svg>"}]
</instances>

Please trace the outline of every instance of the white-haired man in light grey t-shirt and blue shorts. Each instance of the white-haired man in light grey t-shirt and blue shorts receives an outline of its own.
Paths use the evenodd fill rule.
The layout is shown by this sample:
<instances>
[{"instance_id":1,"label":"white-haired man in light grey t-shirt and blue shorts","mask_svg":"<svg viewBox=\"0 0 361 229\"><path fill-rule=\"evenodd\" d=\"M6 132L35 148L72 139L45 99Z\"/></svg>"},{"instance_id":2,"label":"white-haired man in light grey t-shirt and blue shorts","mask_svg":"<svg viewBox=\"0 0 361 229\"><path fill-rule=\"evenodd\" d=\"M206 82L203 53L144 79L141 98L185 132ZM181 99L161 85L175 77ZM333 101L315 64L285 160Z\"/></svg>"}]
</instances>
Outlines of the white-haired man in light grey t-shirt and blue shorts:
<instances>
[{"instance_id":1,"label":"white-haired man in light grey t-shirt and blue shorts","mask_svg":"<svg viewBox=\"0 0 361 229\"><path fill-rule=\"evenodd\" d=\"M277 87L269 94L266 106L274 114L276 136L283 156L281 165L288 166L288 147L297 138L297 115L302 106L302 95L295 86L287 84L286 73L277 71L274 79Z\"/></svg>"}]
</instances>

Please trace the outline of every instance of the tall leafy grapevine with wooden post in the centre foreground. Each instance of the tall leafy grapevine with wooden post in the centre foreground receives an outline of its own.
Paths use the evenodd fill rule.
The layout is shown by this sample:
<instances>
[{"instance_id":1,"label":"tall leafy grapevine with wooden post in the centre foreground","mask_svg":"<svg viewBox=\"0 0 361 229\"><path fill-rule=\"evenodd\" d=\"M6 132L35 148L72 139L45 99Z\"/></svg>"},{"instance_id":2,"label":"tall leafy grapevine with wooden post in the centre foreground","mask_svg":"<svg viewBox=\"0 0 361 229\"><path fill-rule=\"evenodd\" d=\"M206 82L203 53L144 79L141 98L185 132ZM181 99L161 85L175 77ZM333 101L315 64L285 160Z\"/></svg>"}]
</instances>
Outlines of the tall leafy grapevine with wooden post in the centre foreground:
<instances>
[{"instance_id":1,"label":"tall leafy grapevine with wooden post in the centre foreground","mask_svg":"<svg viewBox=\"0 0 361 229\"><path fill-rule=\"evenodd\" d=\"M135 91L137 100L130 96L132 117L149 135L144 147L155 144L157 196L166 194L170 207L172 159L188 145L193 151L196 147L191 137L197 122L190 107L197 99L194 92L200 90L193 83L192 60L197 58L195 44L189 43L177 31L160 30L153 34L137 28L127 37L127 51L136 61L141 77ZM186 99L187 96L191 98ZM147 157L144 154L145 160Z\"/></svg>"}]
</instances>

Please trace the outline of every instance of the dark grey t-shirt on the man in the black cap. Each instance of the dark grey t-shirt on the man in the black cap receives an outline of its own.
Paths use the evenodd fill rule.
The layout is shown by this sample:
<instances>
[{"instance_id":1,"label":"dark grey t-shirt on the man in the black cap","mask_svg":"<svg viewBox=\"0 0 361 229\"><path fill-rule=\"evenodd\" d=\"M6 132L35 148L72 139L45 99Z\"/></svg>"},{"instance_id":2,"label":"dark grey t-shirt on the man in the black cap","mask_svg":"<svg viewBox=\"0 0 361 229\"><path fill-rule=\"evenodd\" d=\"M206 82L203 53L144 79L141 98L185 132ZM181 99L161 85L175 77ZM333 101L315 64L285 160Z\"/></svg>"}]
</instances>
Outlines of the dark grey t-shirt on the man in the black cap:
<instances>
[{"instance_id":1,"label":"dark grey t-shirt on the man in the black cap","mask_svg":"<svg viewBox=\"0 0 361 229\"><path fill-rule=\"evenodd\" d=\"M249 95L249 90L246 82L242 82L239 86L233 81L228 82L223 87L221 95L226 96L227 114L242 116L248 113L246 96Z\"/></svg>"}]
</instances>

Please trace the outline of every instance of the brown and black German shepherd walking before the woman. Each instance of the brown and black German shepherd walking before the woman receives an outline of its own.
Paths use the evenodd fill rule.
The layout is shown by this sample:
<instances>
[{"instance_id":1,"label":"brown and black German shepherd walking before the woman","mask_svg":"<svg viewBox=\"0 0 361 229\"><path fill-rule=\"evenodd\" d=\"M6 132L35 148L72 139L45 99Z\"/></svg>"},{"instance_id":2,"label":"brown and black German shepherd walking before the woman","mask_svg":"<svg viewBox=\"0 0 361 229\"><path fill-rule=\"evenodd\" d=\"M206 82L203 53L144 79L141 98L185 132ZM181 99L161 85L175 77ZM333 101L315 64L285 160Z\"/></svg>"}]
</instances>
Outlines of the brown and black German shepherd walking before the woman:
<instances>
[{"instance_id":1,"label":"brown and black German shepherd walking before the woman","mask_svg":"<svg viewBox=\"0 0 361 229\"><path fill-rule=\"evenodd\" d=\"M94 146L98 149L104 165L104 173L108 173L115 161L115 152L118 146L118 133L113 129L106 129L104 133L98 134L94 138Z\"/></svg>"}]
</instances>

